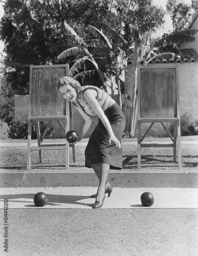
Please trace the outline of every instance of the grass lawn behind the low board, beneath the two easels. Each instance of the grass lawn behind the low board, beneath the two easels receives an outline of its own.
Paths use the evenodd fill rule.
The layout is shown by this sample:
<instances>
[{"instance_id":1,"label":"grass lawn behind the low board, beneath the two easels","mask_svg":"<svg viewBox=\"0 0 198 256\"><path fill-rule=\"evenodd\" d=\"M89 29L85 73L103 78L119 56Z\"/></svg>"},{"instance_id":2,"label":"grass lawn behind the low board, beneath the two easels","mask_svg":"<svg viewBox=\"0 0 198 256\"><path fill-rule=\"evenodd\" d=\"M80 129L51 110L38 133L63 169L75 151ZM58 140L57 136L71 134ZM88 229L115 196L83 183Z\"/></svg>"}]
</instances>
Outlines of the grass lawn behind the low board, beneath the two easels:
<instances>
[{"instance_id":1,"label":"grass lawn behind the low board, beneath the two easels","mask_svg":"<svg viewBox=\"0 0 198 256\"><path fill-rule=\"evenodd\" d=\"M83 142L87 142L84 139ZM145 138L146 141L169 140L169 138ZM194 141L198 140L198 136L187 136L181 138L182 151L182 170L181 172L198 172L198 144ZM36 141L36 140L35 140ZM50 139L47 142L55 141ZM63 139L56 139L56 142L62 142ZM8 143L9 146L5 145ZM24 173L27 163L27 146L22 143L26 140L1 140L0 144L0 172L1 173ZM137 142L135 139L122 140L122 159L123 169L119 172L139 172L137 158L137 144L127 144L129 142ZM12 146L12 144L15 144ZM16 144L17 143L17 144ZM85 145L76 145L76 162L73 163L72 149L70 148L70 169L69 172L93 172L91 168L84 167L84 150ZM173 163L172 148L142 148L141 172L179 172L178 164ZM64 167L64 151L43 151L43 163L39 163L38 152L31 153L31 170L30 172L48 173L48 172L65 172ZM115 172L115 170L112 170Z\"/></svg>"}]
</instances>

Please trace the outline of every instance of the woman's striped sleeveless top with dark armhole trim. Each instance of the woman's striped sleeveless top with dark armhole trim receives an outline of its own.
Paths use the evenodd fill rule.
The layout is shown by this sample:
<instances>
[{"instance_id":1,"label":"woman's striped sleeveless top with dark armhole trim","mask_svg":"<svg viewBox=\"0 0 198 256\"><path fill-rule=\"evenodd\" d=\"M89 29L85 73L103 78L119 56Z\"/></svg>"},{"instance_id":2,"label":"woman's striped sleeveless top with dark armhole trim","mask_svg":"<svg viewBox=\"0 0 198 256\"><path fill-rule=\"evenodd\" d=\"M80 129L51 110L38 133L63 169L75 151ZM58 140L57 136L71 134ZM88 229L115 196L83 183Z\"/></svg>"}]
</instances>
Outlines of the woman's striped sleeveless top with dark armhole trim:
<instances>
[{"instance_id":1,"label":"woman's striped sleeveless top with dark armhole trim","mask_svg":"<svg viewBox=\"0 0 198 256\"><path fill-rule=\"evenodd\" d=\"M112 106L113 104L115 104L115 100L113 100L106 92L102 91L101 89L95 87L95 86L82 86L79 90L80 96L83 99L84 103L86 104L86 107L84 108L79 102L78 100L75 100L73 102L73 104L81 109L86 115L88 116L93 116L93 117L97 117L98 115L95 113L95 111L92 109L91 105L89 105L89 103L85 100L83 93L86 90L95 90L97 92L97 101L101 107L101 109L103 111L107 110L108 108L110 108L110 106Z\"/></svg>"}]
</instances>

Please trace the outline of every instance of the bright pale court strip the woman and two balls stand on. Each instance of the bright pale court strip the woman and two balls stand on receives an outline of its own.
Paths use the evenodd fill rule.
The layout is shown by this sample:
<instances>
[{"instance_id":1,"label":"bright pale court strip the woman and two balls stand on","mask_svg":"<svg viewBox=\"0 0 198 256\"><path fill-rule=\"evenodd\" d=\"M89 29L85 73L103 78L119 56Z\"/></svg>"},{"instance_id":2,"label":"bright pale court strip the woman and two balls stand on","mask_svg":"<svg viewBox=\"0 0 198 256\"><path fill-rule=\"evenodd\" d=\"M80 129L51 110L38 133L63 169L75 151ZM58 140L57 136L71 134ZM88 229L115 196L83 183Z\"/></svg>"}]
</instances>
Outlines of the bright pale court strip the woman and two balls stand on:
<instances>
[{"instance_id":1,"label":"bright pale court strip the woman and two balls stand on","mask_svg":"<svg viewBox=\"0 0 198 256\"><path fill-rule=\"evenodd\" d=\"M43 192L47 204L40 208L92 209L97 187L18 187L1 188L0 208L8 199L8 208L39 208L33 203L34 195ZM104 200L102 209L147 208L141 204L140 196L149 191L154 204L149 208L198 208L198 188L122 188L114 187L111 197Z\"/></svg>"}]
</instances>

